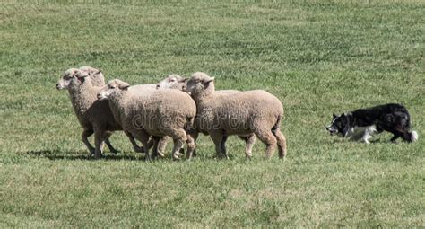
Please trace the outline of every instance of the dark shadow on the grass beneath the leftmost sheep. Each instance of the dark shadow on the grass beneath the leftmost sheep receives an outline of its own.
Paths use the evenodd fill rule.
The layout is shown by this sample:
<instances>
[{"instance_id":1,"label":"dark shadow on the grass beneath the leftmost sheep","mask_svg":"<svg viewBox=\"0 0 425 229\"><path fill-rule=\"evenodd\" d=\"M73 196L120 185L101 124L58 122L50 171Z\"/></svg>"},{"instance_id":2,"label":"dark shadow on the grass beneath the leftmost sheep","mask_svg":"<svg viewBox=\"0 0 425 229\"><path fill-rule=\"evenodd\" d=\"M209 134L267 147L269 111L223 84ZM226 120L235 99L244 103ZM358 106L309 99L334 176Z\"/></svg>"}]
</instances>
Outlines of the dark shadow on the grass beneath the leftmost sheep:
<instances>
[{"instance_id":1,"label":"dark shadow on the grass beneath the leftmost sheep","mask_svg":"<svg viewBox=\"0 0 425 229\"><path fill-rule=\"evenodd\" d=\"M132 155L132 154L103 154L100 159L94 158L93 155L85 152L74 152L74 151L56 151L56 150L39 150L39 151L28 151L24 154L29 154L31 156L47 158L48 160L69 160L69 161L96 161L96 160L106 160L106 161L144 161L144 156Z\"/></svg>"}]
</instances>

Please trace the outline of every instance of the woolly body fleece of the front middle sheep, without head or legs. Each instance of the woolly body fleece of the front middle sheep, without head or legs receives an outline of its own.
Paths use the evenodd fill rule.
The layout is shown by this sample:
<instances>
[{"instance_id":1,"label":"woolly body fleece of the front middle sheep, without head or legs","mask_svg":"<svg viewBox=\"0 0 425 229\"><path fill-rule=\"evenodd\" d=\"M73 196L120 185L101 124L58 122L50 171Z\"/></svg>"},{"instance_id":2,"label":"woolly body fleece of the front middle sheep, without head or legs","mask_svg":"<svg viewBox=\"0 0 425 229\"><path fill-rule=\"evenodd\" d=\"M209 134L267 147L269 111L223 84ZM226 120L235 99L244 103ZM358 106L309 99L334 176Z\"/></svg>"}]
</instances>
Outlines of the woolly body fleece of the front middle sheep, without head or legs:
<instances>
[{"instance_id":1,"label":"woolly body fleece of the front middle sheep, without head or legs","mask_svg":"<svg viewBox=\"0 0 425 229\"><path fill-rule=\"evenodd\" d=\"M109 104L124 129L143 128L150 135L160 137L167 135L167 129L185 128L196 114L195 101L186 92L155 90L143 85L112 93Z\"/></svg>"}]
</instances>

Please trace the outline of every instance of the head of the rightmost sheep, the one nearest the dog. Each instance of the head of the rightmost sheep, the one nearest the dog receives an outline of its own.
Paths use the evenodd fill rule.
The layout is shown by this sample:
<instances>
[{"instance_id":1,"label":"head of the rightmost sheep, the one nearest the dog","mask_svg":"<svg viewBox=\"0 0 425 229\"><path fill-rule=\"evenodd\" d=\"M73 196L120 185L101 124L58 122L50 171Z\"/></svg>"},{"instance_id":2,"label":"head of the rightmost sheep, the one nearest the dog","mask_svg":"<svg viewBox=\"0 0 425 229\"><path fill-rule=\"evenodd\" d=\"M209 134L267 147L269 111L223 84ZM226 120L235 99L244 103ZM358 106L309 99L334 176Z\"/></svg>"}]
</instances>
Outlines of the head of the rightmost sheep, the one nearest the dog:
<instances>
[{"instance_id":1,"label":"head of the rightmost sheep, the one nearest the dog","mask_svg":"<svg viewBox=\"0 0 425 229\"><path fill-rule=\"evenodd\" d=\"M187 81L186 92L193 96L214 92L214 77L197 72Z\"/></svg>"}]
</instances>

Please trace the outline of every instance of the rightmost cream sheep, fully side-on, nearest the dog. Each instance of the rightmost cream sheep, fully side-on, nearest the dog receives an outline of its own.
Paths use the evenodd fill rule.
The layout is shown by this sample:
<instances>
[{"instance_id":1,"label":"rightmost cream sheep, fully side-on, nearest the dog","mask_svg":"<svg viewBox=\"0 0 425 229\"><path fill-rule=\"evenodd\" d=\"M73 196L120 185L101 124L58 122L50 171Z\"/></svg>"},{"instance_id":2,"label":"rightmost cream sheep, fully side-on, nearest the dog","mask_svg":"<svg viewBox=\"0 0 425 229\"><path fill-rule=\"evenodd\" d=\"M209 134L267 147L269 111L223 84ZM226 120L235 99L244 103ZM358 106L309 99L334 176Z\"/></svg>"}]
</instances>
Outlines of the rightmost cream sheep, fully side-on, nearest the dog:
<instances>
[{"instance_id":1,"label":"rightmost cream sheep, fully side-on, nearest the dog","mask_svg":"<svg viewBox=\"0 0 425 229\"><path fill-rule=\"evenodd\" d=\"M196 128L208 133L217 156L228 157L225 143L230 135L255 134L266 145L271 158L278 145L279 156L286 155L286 137L280 130L282 102L262 90L235 92L231 96L215 92L214 77L196 72L187 81L186 92L196 103Z\"/></svg>"}]
</instances>

